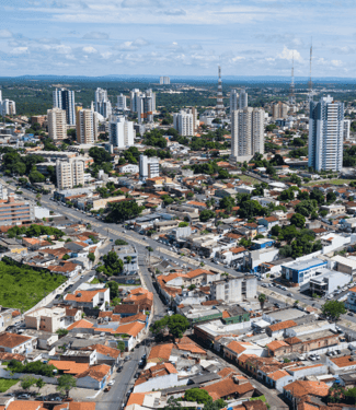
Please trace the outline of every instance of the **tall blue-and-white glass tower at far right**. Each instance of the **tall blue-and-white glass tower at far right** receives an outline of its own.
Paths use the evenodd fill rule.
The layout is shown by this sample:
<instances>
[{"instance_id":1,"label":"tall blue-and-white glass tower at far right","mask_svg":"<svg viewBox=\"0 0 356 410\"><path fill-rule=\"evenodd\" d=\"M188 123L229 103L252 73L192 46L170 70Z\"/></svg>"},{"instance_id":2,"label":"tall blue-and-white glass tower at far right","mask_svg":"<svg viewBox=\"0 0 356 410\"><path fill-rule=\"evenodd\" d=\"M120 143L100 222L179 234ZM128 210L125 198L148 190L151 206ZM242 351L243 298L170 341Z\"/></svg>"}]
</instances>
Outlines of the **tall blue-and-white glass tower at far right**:
<instances>
[{"instance_id":1,"label":"tall blue-and-white glass tower at far right","mask_svg":"<svg viewBox=\"0 0 356 410\"><path fill-rule=\"evenodd\" d=\"M330 95L310 102L308 165L315 171L341 171L343 139L344 103Z\"/></svg>"}]
</instances>

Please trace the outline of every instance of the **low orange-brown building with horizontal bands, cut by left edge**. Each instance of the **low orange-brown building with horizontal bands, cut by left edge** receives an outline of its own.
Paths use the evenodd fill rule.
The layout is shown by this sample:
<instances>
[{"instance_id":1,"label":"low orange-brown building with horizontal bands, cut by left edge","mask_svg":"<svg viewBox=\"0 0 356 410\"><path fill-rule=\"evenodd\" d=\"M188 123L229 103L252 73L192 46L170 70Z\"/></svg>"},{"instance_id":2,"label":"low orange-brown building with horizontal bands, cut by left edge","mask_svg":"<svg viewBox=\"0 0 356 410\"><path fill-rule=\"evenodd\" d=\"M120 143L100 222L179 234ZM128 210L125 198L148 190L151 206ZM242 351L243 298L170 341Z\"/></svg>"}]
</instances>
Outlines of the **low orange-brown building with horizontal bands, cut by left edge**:
<instances>
[{"instance_id":1,"label":"low orange-brown building with horizontal bands, cut by left edge","mask_svg":"<svg viewBox=\"0 0 356 410\"><path fill-rule=\"evenodd\" d=\"M0 203L0 226L21 225L31 223L35 219L34 206L30 201L15 201L10 194L7 202Z\"/></svg>"}]
</instances>

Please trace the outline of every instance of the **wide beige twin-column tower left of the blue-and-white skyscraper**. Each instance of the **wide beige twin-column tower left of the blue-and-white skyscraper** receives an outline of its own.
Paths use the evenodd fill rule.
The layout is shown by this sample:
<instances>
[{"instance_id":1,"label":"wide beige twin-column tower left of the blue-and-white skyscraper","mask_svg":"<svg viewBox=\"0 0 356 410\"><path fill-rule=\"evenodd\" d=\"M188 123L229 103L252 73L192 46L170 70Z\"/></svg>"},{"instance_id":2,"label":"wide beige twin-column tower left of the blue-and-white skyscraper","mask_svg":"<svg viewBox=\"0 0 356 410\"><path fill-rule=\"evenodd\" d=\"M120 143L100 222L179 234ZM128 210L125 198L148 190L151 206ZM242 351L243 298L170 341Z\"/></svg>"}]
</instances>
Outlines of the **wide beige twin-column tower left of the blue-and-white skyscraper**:
<instances>
[{"instance_id":1,"label":"wide beige twin-column tower left of the blue-and-white skyscraper","mask_svg":"<svg viewBox=\"0 0 356 410\"><path fill-rule=\"evenodd\" d=\"M264 153L264 116L261 108L246 107L231 114L231 156Z\"/></svg>"}]
</instances>

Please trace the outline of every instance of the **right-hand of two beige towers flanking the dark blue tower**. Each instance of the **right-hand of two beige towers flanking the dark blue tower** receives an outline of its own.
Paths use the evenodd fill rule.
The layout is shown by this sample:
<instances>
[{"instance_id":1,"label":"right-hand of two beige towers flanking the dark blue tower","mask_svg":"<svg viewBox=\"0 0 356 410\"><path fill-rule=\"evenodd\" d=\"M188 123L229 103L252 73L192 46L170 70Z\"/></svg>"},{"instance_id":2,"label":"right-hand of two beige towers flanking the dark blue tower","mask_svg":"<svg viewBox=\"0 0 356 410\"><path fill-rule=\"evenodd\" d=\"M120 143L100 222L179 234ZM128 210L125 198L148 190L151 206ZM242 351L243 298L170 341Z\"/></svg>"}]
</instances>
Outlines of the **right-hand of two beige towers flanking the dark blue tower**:
<instances>
[{"instance_id":1,"label":"right-hand of two beige towers flanking the dark blue tower","mask_svg":"<svg viewBox=\"0 0 356 410\"><path fill-rule=\"evenodd\" d=\"M80 144L93 144L97 140L97 113L91 109L76 107L77 115L77 142Z\"/></svg>"}]
</instances>

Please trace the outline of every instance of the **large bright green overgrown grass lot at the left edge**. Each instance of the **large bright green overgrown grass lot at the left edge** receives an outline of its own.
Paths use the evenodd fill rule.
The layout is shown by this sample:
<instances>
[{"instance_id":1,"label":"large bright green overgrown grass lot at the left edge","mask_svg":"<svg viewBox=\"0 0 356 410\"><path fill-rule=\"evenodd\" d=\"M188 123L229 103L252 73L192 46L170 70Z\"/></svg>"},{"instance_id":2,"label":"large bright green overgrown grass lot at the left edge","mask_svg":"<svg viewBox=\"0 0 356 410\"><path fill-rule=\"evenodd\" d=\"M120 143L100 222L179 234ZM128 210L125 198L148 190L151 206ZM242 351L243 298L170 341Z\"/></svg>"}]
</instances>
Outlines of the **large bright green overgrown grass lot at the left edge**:
<instances>
[{"instance_id":1,"label":"large bright green overgrown grass lot at the left edge","mask_svg":"<svg viewBox=\"0 0 356 410\"><path fill-rule=\"evenodd\" d=\"M0 305L27 311L66 280L62 274L19 267L4 257L0 261Z\"/></svg>"}]
</instances>

